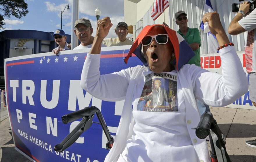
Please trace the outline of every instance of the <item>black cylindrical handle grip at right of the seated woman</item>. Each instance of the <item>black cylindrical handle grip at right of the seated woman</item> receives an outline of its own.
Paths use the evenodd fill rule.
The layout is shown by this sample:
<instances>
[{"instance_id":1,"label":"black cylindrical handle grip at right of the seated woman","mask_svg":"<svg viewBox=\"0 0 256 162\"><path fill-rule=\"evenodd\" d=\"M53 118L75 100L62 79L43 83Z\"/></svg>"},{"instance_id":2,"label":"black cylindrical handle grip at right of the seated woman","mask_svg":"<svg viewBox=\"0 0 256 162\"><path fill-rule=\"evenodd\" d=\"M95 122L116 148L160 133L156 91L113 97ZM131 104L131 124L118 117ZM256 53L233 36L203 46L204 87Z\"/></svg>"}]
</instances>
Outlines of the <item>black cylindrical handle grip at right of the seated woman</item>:
<instances>
[{"instance_id":1,"label":"black cylindrical handle grip at right of the seated woman","mask_svg":"<svg viewBox=\"0 0 256 162\"><path fill-rule=\"evenodd\" d=\"M211 123L214 118L210 112L205 112L200 117L200 122L195 130L195 135L200 139L205 139L210 134Z\"/></svg>"}]
</instances>

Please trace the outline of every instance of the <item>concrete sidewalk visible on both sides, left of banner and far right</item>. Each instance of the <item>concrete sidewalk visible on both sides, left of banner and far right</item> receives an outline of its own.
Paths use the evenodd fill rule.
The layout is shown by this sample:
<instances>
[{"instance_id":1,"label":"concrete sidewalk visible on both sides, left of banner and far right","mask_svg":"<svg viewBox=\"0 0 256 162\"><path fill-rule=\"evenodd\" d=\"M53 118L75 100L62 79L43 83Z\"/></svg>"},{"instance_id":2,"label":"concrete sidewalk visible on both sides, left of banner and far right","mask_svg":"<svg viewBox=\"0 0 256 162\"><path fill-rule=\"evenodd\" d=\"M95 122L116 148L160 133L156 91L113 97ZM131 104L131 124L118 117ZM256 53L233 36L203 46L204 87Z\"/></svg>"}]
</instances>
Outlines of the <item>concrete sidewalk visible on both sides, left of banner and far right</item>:
<instances>
[{"instance_id":1,"label":"concrete sidewalk visible on both sides, left of banner and far right","mask_svg":"<svg viewBox=\"0 0 256 162\"><path fill-rule=\"evenodd\" d=\"M256 139L256 110L210 107L214 119L226 137L227 153L232 162L255 162L256 148L245 144ZM0 122L0 161L30 162L14 149L9 118Z\"/></svg>"}]
</instances>

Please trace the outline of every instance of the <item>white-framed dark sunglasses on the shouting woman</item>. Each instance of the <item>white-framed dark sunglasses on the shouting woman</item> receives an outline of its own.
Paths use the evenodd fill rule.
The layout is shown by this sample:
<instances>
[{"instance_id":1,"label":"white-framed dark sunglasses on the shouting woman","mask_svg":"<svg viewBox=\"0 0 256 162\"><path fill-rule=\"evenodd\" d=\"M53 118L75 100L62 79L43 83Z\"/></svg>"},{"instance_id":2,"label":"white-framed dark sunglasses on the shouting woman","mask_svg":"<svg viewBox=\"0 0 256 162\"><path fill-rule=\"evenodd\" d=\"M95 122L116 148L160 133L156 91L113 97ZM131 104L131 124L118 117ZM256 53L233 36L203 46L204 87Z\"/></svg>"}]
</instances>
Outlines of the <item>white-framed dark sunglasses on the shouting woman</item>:
<instances>
[{"instance_id":1,"label":"white-framed dark sunglasses on the shouting woman","mask_svg":"<svg viewBox=\"0 0 256 162\"><path fill-rule=\"evenodd\" d=\"M158 44L166 44L169 36L168 34L146 35L141 41L142 45L148 46L152 42L153 38L155 38Z\"/></svg>"}]
</instances>

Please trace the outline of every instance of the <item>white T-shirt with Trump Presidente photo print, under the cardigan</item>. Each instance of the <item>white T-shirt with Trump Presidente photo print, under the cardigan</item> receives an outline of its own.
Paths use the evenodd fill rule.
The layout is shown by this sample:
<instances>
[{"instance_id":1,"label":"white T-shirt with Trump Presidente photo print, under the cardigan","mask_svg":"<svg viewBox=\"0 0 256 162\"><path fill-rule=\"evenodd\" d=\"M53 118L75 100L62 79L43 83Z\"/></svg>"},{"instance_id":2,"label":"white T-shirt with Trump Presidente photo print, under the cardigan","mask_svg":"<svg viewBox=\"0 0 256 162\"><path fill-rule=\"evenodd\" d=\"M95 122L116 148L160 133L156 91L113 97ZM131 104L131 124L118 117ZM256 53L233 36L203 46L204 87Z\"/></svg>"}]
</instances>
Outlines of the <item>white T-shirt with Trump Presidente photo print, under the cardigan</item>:
<instances>
[{"instance_id":1,"label":"white T-shirt with Trump Presidente photo print, under the cardigan","mask_svg":"<svg viewBox=\"0 0 256 162\"><path fill-rule=\"evenodd\" d=\"M134 134L118 161L180 162L184 157L198 161L186 126L184 97L177 89L177 73L143 75L133 99Z\"/></svg>"}]
</instances>

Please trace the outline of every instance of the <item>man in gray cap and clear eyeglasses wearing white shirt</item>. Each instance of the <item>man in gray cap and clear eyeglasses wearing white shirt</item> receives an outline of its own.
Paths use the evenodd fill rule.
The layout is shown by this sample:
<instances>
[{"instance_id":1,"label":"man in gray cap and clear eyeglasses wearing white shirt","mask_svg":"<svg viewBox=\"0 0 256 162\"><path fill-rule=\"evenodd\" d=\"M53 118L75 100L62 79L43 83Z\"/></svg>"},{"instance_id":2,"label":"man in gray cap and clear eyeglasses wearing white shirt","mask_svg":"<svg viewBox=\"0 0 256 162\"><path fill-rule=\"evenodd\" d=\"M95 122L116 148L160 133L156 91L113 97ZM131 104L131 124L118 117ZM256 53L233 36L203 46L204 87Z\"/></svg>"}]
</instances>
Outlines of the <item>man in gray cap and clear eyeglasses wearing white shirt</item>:
<instances>
[{"instance_id":1,"label":"man in gray cap and clear eyeglasses wearing white shirt","mask_svg":"<svg viewBox=\"0 0 256 162\"><path fill-rule=\"evenodd\" d=\"M76 20L74 32L80 40L81 44L74 49L86 49L91 48L93 44L94 37L92 36L93 28L90 20L88 19L78 19ZM102 47L106 47L102 44Z\"/></svg>"}]
</instances>

